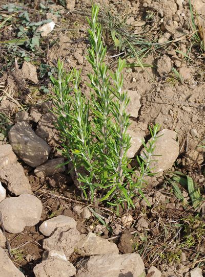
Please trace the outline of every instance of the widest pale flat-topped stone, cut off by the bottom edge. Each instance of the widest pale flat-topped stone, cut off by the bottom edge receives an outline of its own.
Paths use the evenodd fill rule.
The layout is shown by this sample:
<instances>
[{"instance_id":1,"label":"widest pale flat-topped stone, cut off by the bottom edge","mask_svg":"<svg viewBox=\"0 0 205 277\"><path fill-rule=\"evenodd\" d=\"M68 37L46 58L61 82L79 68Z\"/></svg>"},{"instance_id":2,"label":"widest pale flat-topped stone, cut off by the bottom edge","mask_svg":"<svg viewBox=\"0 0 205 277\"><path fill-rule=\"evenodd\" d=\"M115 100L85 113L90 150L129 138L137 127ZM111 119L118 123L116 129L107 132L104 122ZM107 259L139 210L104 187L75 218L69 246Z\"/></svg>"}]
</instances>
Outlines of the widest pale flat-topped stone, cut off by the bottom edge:
<instances>
[{"instance_id":1,"label":"widest pale flat-topped stone, cut off by the bottom edge","mask_svg":"<svg viewBox=\"0 0 205 277\"><path fill-rule=\"evenodd\" d=\"M139 277L145 266L138 254L91 256L78 265L76 277Z\"/></svg>"}]
</instances>

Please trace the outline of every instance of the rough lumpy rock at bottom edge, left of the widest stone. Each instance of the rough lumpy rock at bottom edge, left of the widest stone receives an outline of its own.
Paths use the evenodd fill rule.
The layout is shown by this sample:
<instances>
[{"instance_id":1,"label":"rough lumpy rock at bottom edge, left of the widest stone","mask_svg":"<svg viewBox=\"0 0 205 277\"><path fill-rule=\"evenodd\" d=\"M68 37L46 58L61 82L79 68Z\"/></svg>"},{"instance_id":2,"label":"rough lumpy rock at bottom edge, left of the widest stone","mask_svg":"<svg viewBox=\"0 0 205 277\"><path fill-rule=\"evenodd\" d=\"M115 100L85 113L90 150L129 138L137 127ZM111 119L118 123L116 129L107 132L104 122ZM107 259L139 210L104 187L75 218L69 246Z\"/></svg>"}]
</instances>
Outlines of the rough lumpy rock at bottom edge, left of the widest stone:
<instances>
[{"instance_id":1,"label":"rough lumpy rock at bottom edge, left of the widest stone","mask_svg":"<svg viewBox=\"0 0 205 277\"><path fill-rule=\"evenodd\" d=\"M50 257L33 268L35 277L71 277L76 273L75 267L58 257Z\"/></svg>"}]
</instances>

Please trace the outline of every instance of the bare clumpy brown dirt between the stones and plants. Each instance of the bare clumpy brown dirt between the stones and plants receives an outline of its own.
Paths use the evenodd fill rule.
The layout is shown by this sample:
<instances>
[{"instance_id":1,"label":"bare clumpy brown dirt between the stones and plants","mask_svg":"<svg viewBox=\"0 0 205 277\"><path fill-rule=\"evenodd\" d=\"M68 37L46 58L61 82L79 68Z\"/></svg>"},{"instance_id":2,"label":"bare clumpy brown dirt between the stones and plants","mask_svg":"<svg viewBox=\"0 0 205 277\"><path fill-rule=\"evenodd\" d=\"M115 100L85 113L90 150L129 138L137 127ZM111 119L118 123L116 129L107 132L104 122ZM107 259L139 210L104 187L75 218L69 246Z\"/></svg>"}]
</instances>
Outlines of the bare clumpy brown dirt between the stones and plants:
<instances>
[{"instance_id":1,"label":"bare clumpy brown dirt between the stones and plants","mask_svg":"<svg viewBox=\"0 0 205 277\"><path fill-rule=\"evenodd\" d=\"M46 12L37 15L39 1L27 2L19 4L9 1L11 4L25 7L33 20L46 18ZM0 44L0 139L2 144L8 142L8 131L15 122L16 113L24 109L29 114L27 121L36 134L52 147L50 157L53 158L59 155L56 152L58 134L53 124L55 117L49 110L52 104L47 102L50 97L44 91L46 87L52 93L48 77L50 69L40 78L40 64L44 63L47 68L51 68L56 66L59 58L64 61L66 70L69 71L73 67L80 69L81 89L89 97L86 82L91 66L86 60L89 47L86 16L90 14L90 2L78 0L71 11L60 5L64 1L50 2L50 12L58 15L55 29L42 40L36 55L26 50L36 67L38 83L34 84L32 80L28 80L29 78L19 75L18 71L23 66L24 58L20 57L18 51L25 50L25 45L20 45L13 52L4 43ZM139 34L152 43L164 43L157 47L153 44L142 59L143 63L150 65L149 67L132 66L124 69L124 88L136 90L140 95L141 107L135 121L140 129L146 132L148 138L148 126L156 123L160 124L161 129L167 128L177 132L180 153L172 170L189 174L198 184L204 197L204 149L198 147L205 137L204 53L191 42L189 1L97 2L103 6L108 5L106 9L110 9L113 15L127 18L128 30L132 33ZM45 6L49 5L47 1L42 3ZM197 1L195 5L201 20L205 17L204 6L202 0ZM0 15L7 11L2 6ZM104 26L103 7L99 19ZM15 38L14 26L8 25L3 28L0 41ZM104 41L108 47L106 61L111 68L115 67L116 55L121 52L127 57L128 64L136 63L136 59L129 56L128 49L114 48L108 33L106 29ZM165 43L168 40L170 42ZM186 57L182 53L186 53ZM182 81L173 74L172 67L181 74ZM45 103L49 103L48 106ZM196 150L197 154L193 152ZM200 161L197 161L198 155ZM35 176L33 168L22 161L21 163L34 195L43 204L39 224L26 227L24 232L18 235L6 234L12 249L11 260L26 276L34 276L33 267L42 259L44 236L38 231L38 226L44 220L57 215L74 218L78 222L77 229L81 234L92 231L115 241L121 253L139 253L146 268L154 265L161 270L162 276L185 276L188 270L197 265L205 270L204 209L199 212L191 205L182 203L174 195L173 188L164 176L149 179L148 186L145 186L143 191L150 206L145 199L135 199L136 209L129 211L133 218L132 224L124 226L121 221L121 216L125 213L123 210L116 216L105 206L96 207L84 202L70 175L58 173L45 179L39 178ZM183 196L190 201L186 190L183 190ZM106 220L106 226L94 215L84 219L74 212L76 205L92 207ZM72 257L72 262L78 262L77 255Z\"/></svg>"}]
</instances>

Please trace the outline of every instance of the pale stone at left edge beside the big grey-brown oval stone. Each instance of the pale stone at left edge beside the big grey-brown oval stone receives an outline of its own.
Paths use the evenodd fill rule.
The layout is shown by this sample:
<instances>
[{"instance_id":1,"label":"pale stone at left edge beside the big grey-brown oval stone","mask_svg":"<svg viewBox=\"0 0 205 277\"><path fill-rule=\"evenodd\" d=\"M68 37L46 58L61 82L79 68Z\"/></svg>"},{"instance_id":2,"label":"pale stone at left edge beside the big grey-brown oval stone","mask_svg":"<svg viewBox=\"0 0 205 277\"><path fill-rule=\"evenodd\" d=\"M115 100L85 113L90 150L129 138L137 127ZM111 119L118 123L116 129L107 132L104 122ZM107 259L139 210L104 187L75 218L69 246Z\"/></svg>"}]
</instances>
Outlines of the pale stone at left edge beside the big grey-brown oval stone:
<instances>
[{"instance_id":1,"label":"pale stone at left edge beside the big grey-brown oval stone","mask_svg":"<svg viewBox=\"0 0 205 277\"><path fill-rule=\"evenodd\" d=\"M17 157L10 144L0 145L0 170L9 165L15 164Z\"/></svg>"}]
</instances>

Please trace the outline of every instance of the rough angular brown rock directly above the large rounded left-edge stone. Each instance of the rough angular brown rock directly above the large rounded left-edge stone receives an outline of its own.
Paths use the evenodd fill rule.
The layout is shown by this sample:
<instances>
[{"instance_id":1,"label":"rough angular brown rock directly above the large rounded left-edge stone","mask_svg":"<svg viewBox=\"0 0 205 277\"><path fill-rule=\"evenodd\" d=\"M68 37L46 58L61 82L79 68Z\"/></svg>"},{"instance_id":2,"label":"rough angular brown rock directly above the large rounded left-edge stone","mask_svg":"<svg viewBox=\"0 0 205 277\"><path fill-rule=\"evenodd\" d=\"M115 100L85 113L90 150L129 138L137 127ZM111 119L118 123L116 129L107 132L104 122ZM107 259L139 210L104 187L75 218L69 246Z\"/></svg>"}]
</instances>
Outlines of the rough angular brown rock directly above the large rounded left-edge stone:
<instances>
[{"instance_id":1,"label":"rough angular brown rock directly above the large rounded left-edge stone","mask_svg":"<svg viewBox=\"0 0 205 277\"><path fill-rule=\"evenodd\" d=\"M29 180L24 173L24 168L19 163L9 165L0 170L0 180L15 195L23 193L32 194Z\"/></svg>"}]
</instances>

